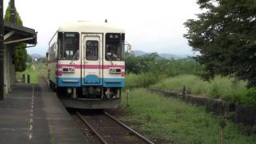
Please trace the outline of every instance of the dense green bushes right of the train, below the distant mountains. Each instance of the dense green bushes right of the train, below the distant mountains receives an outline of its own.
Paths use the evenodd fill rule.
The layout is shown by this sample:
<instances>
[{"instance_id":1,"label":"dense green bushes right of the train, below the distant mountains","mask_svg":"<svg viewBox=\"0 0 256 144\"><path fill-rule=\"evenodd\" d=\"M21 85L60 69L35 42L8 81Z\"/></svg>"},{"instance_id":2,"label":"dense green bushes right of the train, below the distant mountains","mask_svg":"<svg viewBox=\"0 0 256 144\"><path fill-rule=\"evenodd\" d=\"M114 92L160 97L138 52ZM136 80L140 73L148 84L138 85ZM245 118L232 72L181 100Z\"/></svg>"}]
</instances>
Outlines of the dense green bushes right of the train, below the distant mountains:
<instances>
[{"instance_id":1,"label":"dense green bushes right of the train, below the distant mountains","mask_svg":"<svg viewBox=\"0 0 256 144\"><path fill-rule=\"evenodd\" d=\"M201 71L202 66L193 58L174 60L161 58L157 53L138 57L126 54L126 73L151 73L165 78L178 74L200 74Z\"/></svg>"}]
</instances>

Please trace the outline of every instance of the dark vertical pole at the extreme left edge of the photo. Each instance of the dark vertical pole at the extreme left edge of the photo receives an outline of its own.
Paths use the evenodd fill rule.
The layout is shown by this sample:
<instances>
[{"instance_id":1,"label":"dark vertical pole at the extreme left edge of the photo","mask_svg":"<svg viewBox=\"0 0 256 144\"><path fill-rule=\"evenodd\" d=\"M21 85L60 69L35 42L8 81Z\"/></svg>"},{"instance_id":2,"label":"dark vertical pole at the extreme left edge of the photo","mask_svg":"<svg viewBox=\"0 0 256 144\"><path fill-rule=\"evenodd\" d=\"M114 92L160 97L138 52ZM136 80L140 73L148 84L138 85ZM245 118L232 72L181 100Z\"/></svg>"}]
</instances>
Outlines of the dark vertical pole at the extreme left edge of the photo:
<instances>
[{"instance_id":1,"label":"dark vertical pole at the extreme left edge of the photo","mask_svg":"<svg viewBox=\"0 0 256 144\"><path fill-rule=\"evenodd\" d=\"M3 54L4 54L3 0L0 0L0 100L4 98Z\"/></svg>"}]
</instances>

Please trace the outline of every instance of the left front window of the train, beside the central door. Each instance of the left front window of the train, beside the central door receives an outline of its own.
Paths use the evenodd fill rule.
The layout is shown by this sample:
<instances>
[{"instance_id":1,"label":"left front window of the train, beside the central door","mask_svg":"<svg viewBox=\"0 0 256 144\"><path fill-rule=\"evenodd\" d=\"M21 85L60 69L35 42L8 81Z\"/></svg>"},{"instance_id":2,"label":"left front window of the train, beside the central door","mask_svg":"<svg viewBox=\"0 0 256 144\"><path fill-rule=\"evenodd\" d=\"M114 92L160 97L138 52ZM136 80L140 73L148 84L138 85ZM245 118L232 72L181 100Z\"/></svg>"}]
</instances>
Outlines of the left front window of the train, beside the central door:
<instances>
[{"instance_id":1,"label":"left front window of the train, beside the central door","mask_svg":"<svg viewBox=\"0 0 256 144\"><path fill-rule=\"evenodd\" d=\"M78 60L79 34L73 32L58 33L58 59Z\"/></svg>"}]
</instances>

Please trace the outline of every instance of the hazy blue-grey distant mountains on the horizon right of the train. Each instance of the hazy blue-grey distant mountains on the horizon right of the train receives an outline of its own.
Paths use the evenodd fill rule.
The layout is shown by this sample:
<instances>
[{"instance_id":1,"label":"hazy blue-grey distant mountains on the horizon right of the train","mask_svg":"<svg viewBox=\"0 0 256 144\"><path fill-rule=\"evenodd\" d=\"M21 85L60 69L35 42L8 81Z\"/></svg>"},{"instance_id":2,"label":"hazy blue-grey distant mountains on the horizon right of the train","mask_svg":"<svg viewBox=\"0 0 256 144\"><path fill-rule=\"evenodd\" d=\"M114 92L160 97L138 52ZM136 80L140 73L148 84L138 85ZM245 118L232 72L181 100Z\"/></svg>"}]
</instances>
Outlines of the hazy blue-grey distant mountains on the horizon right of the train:
<instances>
[{"instance_id":1,"label":"hazy blue-grey distant mountains on the horizon right of the train","mask_svg":"<svg viewBox=\"0 0 256 144\"><path fill-rule=\"evenodd\" d=\"M135 56L143 56L143 55L146 55L146 54L150 54L150 53L146 53L146 52L141 51L141 50L133 50L132 53ZM166 59L171 59L171 58L174 58L174 59L188 58L187 55L178 55L178 54L158 54L158 55L161 58L166 58Z\"/></svg>"}]
</instances>

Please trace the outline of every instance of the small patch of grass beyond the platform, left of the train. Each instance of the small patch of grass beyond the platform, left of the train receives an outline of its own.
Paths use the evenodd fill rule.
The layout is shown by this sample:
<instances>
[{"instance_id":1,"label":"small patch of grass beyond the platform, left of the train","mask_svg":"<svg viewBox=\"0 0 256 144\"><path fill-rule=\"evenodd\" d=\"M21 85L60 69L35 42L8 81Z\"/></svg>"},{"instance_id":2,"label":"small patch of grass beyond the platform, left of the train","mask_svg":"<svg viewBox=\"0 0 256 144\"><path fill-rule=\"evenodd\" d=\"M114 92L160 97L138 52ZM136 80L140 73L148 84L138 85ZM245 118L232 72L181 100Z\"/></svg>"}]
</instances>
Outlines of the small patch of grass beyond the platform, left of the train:
<instances>
[{"instance_id":1,"label":"small patch of grass beyond the platform, left of the train","mask_svg":"<svg viewBox=\"0 0 256 144\"><path fill-rule=\"evenodd\" d=\"M33 63L27 66L23 72L16 72L16 78L22 79L22 74L30 74L30 83L38 83L38 76L46 76L46 65L43 63Z\"/></svg>"}]
</instances>

